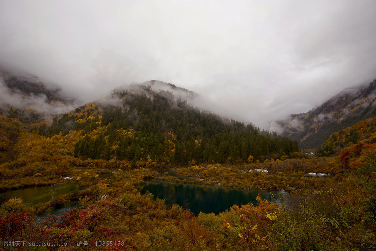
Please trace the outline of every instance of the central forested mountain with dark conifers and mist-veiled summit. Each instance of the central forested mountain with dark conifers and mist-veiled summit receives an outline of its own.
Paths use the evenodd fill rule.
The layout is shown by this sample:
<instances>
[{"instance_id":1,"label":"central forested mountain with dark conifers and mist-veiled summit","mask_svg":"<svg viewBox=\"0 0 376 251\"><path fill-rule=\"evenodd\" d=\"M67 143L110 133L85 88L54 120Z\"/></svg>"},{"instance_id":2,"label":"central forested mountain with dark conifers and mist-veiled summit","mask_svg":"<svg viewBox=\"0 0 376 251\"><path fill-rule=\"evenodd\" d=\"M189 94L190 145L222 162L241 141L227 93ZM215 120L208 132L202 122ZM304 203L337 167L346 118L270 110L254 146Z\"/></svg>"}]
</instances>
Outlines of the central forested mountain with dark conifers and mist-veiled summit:
<instances>
[{"instance_id":1,"label":"central forested mountain with dark conifers and mist-veiled summit","mask_svg":"<svg viewBox=\"0 0 376 251\"><path fill-rule=\"evenodd\" d=\"M73 140L74 157L124 160L131 166L235 163L249 155L263 161L299 151L286 137L200 111L150 85L115 90L32 130L45 137L73 131L80 133Z\"/></svg>"}]
</instances>

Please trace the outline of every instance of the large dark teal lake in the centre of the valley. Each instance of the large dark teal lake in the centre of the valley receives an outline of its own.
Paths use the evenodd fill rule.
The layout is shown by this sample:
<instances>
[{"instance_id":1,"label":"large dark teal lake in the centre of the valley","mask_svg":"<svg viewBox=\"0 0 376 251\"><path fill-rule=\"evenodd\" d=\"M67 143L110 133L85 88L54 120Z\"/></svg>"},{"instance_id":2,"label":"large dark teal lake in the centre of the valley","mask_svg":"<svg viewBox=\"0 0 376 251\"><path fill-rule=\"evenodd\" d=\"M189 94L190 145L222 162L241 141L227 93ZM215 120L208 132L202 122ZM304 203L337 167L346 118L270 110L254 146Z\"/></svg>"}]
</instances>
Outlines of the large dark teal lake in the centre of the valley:
<instances>
[{"instance_id":1,"label":"large dark teal lake in the centre of the valley","mask_svg":"<svg viewBox=\"0 0 376 251\"><path fill-rule=\"evenodd\" d=\"M206 213L220 213L234 204L245 205L249 202L256 205L256 197L276 201L280 203L281 197L288 197L287 192L265 191L265 190L244 190L222 186L208 186L197 184L176 184L166 181L146 181L137 189L141 194L147 191L156 198L165 199L167 205L178 204L181 207L190 209L194 214L200 211Z\"/></svg>"}]
</instances>

